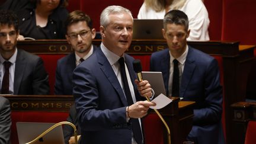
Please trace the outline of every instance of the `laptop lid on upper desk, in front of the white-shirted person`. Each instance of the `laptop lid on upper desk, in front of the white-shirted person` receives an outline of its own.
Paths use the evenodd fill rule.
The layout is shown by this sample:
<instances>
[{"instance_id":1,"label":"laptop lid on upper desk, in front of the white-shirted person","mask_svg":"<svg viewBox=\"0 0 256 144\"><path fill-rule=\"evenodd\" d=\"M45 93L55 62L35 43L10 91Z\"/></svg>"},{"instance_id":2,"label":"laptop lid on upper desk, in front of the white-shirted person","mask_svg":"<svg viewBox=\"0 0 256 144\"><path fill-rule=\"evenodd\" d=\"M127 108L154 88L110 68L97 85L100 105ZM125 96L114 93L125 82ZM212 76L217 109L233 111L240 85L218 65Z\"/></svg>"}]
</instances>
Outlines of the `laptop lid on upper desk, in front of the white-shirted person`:
<instances>
[{"instance_id":1,"label":"laptop lid on upper desk, in front of the white-shirted person","mask_svg":"<svg viewBox=\"0 0 256 144\"><path fill-rule=\"evenodd\" d=\"M164 39L162 19L134 19L133 39Z\"/></svg>"}]
</instances>

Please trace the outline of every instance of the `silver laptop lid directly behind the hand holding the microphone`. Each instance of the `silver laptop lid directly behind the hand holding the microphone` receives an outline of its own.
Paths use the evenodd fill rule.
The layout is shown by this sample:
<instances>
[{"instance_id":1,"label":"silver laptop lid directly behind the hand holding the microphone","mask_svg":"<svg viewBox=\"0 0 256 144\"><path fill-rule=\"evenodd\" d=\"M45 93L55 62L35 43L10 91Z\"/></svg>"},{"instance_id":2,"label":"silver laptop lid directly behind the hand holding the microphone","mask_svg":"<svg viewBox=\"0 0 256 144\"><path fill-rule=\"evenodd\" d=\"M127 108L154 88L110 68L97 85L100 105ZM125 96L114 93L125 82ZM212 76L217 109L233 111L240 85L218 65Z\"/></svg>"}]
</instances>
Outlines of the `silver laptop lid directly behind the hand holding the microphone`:
<instances>
[{"instance_id":1,"label":"silver laptop lid directly behind the hand holding the microphone","mask_svg":"<svg viewBox=\"0 0 256 144\"><path fill-rule=\"evenodd\" d=\"M155 91L155 97L159 94L166 95L162 72L142 72L142 79L151 84L151 88Z\"/></svg>"}]
</instances>

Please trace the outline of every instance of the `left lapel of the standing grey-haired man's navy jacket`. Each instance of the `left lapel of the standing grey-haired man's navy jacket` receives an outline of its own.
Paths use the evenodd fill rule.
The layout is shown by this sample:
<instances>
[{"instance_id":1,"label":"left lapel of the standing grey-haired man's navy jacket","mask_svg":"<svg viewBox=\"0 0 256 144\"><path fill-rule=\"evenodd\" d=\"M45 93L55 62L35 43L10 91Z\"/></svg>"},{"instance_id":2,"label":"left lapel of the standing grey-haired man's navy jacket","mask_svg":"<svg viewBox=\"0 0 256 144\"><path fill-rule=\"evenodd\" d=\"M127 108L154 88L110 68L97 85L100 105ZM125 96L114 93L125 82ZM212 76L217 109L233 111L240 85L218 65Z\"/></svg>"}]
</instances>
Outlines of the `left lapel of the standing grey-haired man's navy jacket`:
<instances>
[{"instance_id":1,"label":"left lapel of the standing grey-haired man's navy jacket","mask_svg":"<svg viewBox=\"0 0 256 144\"><path fill-rule=\"evenodd\" d=\"M110 81L110 84L114 87L114 89L116 89L117 93L119 94L121 103L123 103L123 105L127 105L127 101L124 96L123 89L121 88L121 85L117 79L117 76L114 73L110 63L108 62L107 57L105 57L105 55L100 49L98 50L97 57L98 57L98 63L100 63L101 65L101 71L103 71L108 81Z\"/></svg>"}]
</instances>

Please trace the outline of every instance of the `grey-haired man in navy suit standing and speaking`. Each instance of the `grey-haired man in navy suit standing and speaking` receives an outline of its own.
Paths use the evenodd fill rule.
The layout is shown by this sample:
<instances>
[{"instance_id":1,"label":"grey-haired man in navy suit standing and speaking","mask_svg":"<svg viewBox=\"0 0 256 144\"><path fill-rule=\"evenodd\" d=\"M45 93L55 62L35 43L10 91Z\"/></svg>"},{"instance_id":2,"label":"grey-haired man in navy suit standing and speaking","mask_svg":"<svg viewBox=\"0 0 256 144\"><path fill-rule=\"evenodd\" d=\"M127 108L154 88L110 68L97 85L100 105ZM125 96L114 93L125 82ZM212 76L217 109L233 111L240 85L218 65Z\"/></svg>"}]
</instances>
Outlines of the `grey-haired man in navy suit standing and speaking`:
<instances>
[{"instance_id":1,"label":"grey-haired man in navy suit standing and speaking","mask_svg":"<svg viewBox=\"0 0 256 144\"><path fill-rule=\"evenodd\" d=\"M132 42L132 14L110 6L101 13L100 23L101 48L73 72L81 143L142 144L140 118L155 104L142 101L142 95L152 96L151 85L137 81L133 57L124 53Z\"/></svg>"}]
</instances>

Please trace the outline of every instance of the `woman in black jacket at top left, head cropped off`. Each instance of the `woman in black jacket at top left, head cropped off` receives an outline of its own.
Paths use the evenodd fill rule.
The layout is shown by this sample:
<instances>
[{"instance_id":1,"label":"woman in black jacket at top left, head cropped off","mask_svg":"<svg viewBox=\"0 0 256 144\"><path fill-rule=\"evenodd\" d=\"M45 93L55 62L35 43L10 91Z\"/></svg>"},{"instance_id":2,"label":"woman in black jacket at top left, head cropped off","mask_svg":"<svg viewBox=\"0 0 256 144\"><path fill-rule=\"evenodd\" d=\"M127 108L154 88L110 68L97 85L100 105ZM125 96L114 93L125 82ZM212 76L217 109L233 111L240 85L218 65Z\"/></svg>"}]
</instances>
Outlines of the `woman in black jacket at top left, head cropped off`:
<instances>
[{"instance_id":1,"label":"woman in black jacket at top left, head cropped off","mask_svg":"<svg viewBox=\"0 0 256 144\"><path fill-rule=\"evenodd\" d=\"M31 0L25 9L17 12L20 34L33 39L65 39L63 23L68 17L67 5L66 0Z\"/></svg>"}]
</instances>

